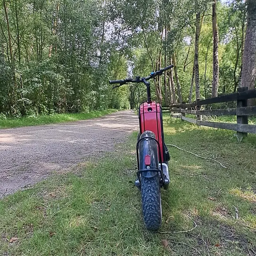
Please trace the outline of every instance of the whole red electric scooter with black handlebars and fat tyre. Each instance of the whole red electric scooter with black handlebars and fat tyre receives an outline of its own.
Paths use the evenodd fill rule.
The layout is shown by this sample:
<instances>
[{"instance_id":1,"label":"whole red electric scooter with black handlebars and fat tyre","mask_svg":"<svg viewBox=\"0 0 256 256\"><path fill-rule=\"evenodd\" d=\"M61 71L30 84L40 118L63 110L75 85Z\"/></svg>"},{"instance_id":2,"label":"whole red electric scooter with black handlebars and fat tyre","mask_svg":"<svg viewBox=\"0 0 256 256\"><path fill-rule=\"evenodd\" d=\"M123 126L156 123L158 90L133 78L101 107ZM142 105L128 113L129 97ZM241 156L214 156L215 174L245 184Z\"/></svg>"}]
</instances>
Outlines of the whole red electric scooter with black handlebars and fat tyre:
<instances>
[{"instance_id":1,"label":"whole red electric scooter with black handlebars and fat tyre","mask_svg":"<svg viewBox=\"0 0 256 256\"><path fill-rule=\"evenodd\" d=\"M144 83L147 89L147 101L139 107L140 133L136 145L137 179L135 185L141 191L142 212L148 230L158 230L162 223L162 206L160 188L168 189L170 176L168 161L170 155L164 143L162 107L151 100L150 83L148 80L160 76L173 65L152 72L150 76L135 79L110 80L110 84L118 84L114 88L129 83Z\"/></svg>"}]
</instances>

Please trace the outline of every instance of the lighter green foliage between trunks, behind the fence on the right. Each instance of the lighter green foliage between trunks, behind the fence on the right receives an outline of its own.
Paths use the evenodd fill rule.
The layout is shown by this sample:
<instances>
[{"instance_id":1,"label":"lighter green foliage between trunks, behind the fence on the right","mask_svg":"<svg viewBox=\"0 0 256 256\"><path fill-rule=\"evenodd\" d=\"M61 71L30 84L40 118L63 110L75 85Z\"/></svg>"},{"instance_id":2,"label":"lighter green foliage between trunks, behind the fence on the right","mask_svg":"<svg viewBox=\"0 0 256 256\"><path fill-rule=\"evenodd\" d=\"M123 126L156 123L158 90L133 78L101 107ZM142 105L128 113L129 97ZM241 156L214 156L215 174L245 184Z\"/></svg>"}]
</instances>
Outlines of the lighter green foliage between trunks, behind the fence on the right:
<instances>
[{"instance_id":1,"label":"lighter green foliage between trunks, behind the fence on the right","mask_svg":"<svg viewBox=\"0 0 256 256\"><path fill-rule=\"evenodd\" d=\"M146 11L129 17L130 0L122 2L120 10L122 22L131 28L136 38L130 60L134 63L133 74L148 75L156 69L159 54L164 64L164 53L167 64L175 52L178 77L181 84L182 98L188 101L194 62L195 18L200 11L201 32L199 39L199 74L201 98L211 97L212 91L212 1L144 1L145 6L154 4L156 13ZM132 6L140 7L136 1ZM126 9L127 8L127 9ZM241 0L230 3L218 2L217 22L219 28L219 94L232 93L238 84L242 64L242 25L245 28L245 4ZM132 17L132 18L131 18ZM168 30L168 36L165 35ZM152 63L153 62L153 63ZM175 80L175 79L174 79ZM161 80L164 94L164 79ZM175 85L176 86L176 85ZM177 88L176 88L177 90ZM195 90L194 90L195 91ZM195 92L193 91L193 100ZM176 91L177 94L177 91ZM153 96L155 93L153 93ZM164 98L164 96L163 96Z\"/></svg>"}]
</instances>

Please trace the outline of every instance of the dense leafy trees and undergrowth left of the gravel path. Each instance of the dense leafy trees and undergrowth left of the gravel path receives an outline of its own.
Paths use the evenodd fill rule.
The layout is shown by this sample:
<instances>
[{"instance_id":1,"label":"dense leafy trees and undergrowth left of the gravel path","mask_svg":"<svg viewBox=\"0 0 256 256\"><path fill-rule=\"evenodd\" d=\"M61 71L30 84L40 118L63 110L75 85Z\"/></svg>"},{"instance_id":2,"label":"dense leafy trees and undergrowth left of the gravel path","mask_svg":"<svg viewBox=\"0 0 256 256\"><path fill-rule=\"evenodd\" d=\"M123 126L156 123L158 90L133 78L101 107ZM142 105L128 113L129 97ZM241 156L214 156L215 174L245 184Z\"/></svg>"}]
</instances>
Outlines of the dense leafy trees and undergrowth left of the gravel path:
<instances>
[{"instance_id":1,"label":"dense leafy trees and undergrowth left of the gravel path","mask_svg":"<svg viewBox=\"0 0 256 256\"><path fill-rule=\"evenodd\" d=\"M95 0L2 2L0 113L19 117L126 108L127 94L116 97L108 86L112 63L122 57L122 70L125 66L125 47L117 50L119 44L107 35L110 11Z\"/></svg>"}]
</instances>

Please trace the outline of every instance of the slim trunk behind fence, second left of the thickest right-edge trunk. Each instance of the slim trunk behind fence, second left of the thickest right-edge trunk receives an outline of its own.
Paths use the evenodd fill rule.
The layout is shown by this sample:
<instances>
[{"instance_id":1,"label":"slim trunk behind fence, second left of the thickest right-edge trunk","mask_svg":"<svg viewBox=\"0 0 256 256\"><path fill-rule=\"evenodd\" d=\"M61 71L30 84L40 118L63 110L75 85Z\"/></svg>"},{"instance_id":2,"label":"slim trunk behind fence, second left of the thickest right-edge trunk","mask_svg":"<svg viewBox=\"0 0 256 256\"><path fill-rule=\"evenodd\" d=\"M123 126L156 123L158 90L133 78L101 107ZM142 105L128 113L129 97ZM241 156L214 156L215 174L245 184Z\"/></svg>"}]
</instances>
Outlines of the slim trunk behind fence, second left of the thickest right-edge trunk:
<instances>
[{"instance_id":1,"label":"slim trunk behind fence, second left of the thickest right-edge trunk","mask_svg":"<svg viewBox=\"0 0 256 256\"><path fill-rule=\"evenodd\" d=\"M200 98L200 81L199 81L199 35L200 35L200 12L196 13L196 38L195 38L195 81L196 81L196 99Z\"/></svg>"}]
</instances>

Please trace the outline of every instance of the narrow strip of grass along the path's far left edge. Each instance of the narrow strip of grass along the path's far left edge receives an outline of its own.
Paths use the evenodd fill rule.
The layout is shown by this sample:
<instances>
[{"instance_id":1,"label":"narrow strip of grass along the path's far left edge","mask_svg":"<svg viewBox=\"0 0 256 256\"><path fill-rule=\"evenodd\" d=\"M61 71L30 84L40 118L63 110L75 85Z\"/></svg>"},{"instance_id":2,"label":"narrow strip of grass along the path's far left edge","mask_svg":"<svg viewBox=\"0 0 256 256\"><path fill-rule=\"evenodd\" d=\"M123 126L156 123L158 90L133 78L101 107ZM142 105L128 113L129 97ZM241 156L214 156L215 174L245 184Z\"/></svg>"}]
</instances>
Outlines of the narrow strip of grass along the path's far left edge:
<instances>
[{"instance_id":1,"label":"narrow strip of grass along the path's far left edge","mask_svg":"<svg viewBox=\"0 0 256 256\"><path fill-rule=\"evenodd\" d=\"M13 119L4 119L4 120L0 119L0 129L86 120L90 118L104 116L106 114L110 114L115 111L116 110L109 109L109 110L95 110L90 113L53 114L53 115L42 115L38 117L25 116L22 118L13 118Z\"/></svg>"}]
</instances>

